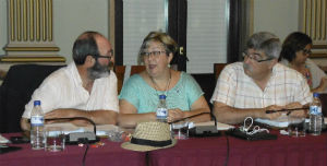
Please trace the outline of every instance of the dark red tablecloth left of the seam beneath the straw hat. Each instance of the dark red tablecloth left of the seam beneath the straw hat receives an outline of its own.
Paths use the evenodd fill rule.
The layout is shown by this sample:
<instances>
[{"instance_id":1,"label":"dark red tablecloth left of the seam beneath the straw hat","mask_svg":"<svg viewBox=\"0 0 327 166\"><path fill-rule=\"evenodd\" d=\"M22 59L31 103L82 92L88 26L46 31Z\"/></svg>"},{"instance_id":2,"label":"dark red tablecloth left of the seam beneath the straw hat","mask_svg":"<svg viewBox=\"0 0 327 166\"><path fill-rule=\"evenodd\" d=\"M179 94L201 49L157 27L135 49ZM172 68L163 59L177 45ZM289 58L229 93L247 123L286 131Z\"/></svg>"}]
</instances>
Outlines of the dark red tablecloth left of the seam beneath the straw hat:
<instances>
[{"instance_id":1,"label":"dark red tablecloth left of the seam beneath the straw hat","mask_svg":"<svg viewBox=\"0 0 327 166\"><path fill-rule=\"evenodd\" d=\"M17 133L2 134L5 138ZM145 153L126 151L120 147L121 143L101 140L105 145L89 147L86 156L86 166L144 166L146 165ZM9 144L13 145L13 144ZM63 152L34 151L31 144L14 144L23 149L15 152L0 154L0 166L81 166L85 147L66 145Z\"/></svg>"}]
</instances>

